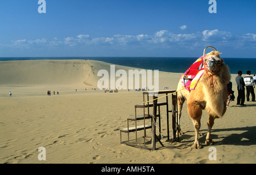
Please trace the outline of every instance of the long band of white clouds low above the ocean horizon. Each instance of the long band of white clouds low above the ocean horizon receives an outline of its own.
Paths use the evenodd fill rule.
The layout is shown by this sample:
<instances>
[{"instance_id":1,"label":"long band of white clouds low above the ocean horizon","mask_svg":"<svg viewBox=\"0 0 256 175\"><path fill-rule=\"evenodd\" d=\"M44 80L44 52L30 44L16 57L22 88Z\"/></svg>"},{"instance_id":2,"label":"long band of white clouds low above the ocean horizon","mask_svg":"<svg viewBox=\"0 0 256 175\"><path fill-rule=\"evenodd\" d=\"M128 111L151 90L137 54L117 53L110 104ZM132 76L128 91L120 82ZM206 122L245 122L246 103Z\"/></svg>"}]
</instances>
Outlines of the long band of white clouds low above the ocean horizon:
<instances>
[{"instance_id":1,"label":"long band of white clouds low above the ocean horizon","mask_svg":"<svg viewBox=\"0 0 256 175\"><path fill-rule=\"evenodd\" d=\"M233 36L231 32L218 29L204 30L196 33L172 33L167 30L155 32L154 35L114 35L112 37L91 37L80 34L75 37L67 36L60 40L57 37L49 40L46 38L35 40L15 40L10 44L1 44L1 48L90 48L90 46L104 46L104 49L198 49L205 46L222 46L229 48L255 49L256 34L246 33Z\"/></svg>"}]
</instances>

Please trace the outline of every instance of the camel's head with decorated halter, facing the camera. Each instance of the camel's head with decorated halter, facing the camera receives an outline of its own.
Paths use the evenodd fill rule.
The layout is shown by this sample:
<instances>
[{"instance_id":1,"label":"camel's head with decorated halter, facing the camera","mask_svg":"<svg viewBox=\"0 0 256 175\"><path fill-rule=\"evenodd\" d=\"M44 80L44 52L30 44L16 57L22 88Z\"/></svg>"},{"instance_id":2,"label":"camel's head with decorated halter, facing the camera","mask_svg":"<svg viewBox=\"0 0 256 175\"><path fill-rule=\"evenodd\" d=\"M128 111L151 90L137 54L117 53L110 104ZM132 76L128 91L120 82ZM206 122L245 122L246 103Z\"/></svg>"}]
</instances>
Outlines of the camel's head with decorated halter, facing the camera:
<instances>
[{"instance_id":1,"label":"camel's head with decorated halter, facing the camera","mask_svg":"<svg viewBox=\"0 0 256 175\"><path fill-rule=\"evenodd\" d=\"M217 72L220 69L220 66L224 63L224 60L220 58L220 54L218 51L212 51L204 57L204 66L207 71Z\"/></svg>"}]
</instances>

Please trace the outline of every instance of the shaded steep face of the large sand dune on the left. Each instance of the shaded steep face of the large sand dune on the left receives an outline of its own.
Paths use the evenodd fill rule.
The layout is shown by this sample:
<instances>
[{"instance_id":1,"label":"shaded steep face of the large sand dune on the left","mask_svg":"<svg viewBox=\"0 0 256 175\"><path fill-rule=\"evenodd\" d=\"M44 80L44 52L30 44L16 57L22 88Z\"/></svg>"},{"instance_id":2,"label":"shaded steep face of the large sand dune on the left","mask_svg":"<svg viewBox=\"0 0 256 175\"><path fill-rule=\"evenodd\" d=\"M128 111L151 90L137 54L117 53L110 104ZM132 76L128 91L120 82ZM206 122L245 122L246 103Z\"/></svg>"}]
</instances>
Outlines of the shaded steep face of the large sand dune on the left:
<instances>
[{"instance_id":1,"label":"shaded steep face of the large sand dune on the left","mask_svg":"<svg viewBox=\"0 0 256 175\"><path fill-rule=\"evenodd\" d=\"M1 85L95 86L96 76L85 60L32 60L0 62ZM91 83L91 84L90 84Z\"/></svg>"}]
</instances>

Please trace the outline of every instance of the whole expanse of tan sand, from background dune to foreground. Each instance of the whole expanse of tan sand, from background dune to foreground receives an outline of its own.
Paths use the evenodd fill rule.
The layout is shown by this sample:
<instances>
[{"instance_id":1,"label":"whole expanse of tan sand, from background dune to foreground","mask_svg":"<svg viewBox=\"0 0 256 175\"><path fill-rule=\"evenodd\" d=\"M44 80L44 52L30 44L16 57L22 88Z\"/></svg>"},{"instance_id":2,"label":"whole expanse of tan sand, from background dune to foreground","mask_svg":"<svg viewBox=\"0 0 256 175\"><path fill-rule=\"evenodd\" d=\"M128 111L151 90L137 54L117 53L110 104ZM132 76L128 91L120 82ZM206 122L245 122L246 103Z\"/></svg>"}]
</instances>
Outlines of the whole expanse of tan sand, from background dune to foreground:
<instances>
[{"instance_id":1,"label":"whole expanse of tan sand, from background dune to foreground","mask_svg":"<svg viewBox=\"0 0 256 175\"><path fill-rule=\"evenodd\" d=\"M119 130L127 127L127 118L134 116L134 105L143 103L143 95L126 89L117 93L95 91L100 79L97 72L109 70L110 65L91 60L0 62L0 163L256 163L256 103L251 101L246 101L246 106L232 101L224 117L215 120L212 138L216 160L209 160L212 146L204 144L205 111L200 129L203 148L191 148L194 131L186 105L181 118L185 134L180 142L167 140L163 108L164 147L157 143L158 149L150 151L120 144ZM115 69L135 68L115 65ZM159 72L159 90L176 90L182 73ZM235 78L232 74L237 97ZM46 148L46 160L38 159L39 147Z\"/></svg>"}]
</instances>

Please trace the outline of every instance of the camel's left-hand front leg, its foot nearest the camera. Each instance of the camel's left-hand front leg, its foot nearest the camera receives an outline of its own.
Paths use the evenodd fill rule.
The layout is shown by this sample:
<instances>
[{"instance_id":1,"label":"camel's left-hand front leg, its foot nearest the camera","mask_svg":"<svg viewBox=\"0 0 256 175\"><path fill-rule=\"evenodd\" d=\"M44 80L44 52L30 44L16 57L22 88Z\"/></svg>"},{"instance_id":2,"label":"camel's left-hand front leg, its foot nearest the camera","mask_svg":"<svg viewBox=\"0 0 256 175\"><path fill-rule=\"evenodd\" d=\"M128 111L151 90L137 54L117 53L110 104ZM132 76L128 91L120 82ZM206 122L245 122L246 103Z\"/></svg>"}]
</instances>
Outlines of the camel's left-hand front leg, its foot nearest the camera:
<instances>
[{"instance_id":1,"label":"camel's left-hand front leg, its foot nearest the camera","mask_svg":"<svg viewBox=\"0 0 256 175\"><path fill-rule=\"evenodd\" d=\"M188 114L192 119L195 129L195 142L193 143L192 148L200 149L201 144L199 143L199 130L201 127L202 109L197 104L188 104Z\"/></svg>"}]
</instances>

